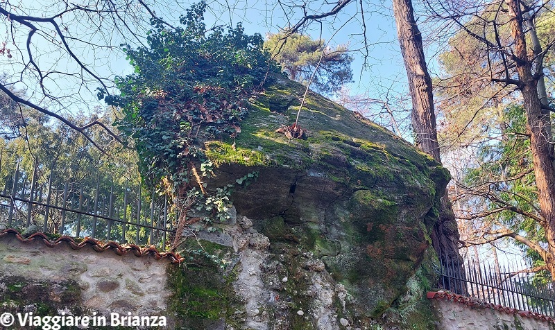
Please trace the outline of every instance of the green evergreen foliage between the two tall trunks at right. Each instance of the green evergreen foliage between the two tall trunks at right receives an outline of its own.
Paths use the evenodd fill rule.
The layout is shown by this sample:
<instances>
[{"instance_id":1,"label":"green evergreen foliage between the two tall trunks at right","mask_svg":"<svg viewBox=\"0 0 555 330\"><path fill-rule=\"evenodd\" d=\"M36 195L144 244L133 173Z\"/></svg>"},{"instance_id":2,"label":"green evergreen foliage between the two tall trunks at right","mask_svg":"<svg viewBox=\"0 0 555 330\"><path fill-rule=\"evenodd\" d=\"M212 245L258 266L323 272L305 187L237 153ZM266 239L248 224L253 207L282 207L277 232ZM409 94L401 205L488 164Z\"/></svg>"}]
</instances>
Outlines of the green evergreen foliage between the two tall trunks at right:
<instances>
[{"instance_id":1,"label":"green evergreen foliage between the two tall trunks at right","mask_svg":"<svg viewBox=\"0 0 555 330\"><path fill-rule=\"evenodd\" d=\"M501 119L506 123L503 138L481 144L477 154L479 166L468 168L463 178L464 184L475 189L475 196L467 201L468 207L484 209L485 205L487 211L505 208L486 216L483 229L495 231L506 227L533 243L546 245L545 229L540 223L511 209L512 206L540 216L530 139L526 134L522 105L509 105ZM526 252L533 267L545 265L535 250L520 241L514 243ZM536 280L545 281L549 277L545 270L536 273Z\"/></svg>"}]
</instances>

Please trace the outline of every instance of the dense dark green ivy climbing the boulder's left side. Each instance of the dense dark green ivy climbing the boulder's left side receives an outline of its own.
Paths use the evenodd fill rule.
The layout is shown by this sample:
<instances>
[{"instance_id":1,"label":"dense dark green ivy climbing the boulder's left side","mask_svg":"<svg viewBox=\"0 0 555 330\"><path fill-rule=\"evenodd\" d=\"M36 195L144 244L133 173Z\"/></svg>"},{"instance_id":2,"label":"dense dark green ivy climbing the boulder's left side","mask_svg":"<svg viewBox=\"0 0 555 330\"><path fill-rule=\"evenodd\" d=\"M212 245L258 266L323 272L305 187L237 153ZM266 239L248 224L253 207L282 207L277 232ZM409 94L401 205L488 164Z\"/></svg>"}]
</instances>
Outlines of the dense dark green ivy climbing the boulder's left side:
<instances>
[{"instance_id":1,"label":"dense dark green ivy climbing the boulder's left side","mask_svg":"<svg viewBox=\"0 0 555 330\"><path fill-rule=\"evenodd\" d=\"M119 95L99 89L99 98L123 109L114 125L134 140L144 180L166 182L181 214L200 208L222 220L230 189L243 182L207 191L203 177L213 172L204 142L236 137L248 98L279 67L262 36L246 35L241 24L207 29L205 9L204 1L192 5L178 28L153 19L148 47L122 45L135 73L117 78Z\"/></svg>"}]
</instances>

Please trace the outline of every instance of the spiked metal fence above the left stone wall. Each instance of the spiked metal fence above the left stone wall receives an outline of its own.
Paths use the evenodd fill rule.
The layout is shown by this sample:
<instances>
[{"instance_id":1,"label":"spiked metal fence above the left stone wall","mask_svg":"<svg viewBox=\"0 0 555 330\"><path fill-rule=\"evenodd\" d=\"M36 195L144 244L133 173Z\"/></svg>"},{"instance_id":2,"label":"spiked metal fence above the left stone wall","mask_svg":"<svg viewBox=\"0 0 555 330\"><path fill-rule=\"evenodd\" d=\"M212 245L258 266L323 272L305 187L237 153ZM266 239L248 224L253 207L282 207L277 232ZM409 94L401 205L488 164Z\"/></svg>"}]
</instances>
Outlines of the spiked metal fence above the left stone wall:
<instances>
[{"instance_id":1,"label":"spiked metal fence above the left stone wall","mask_svg":"<svg viewBox=\"0 0 555 330\"><path fill-rule=\"evenodd\" d=\"M175 233L170 219L175 216L169 214L167 198L155 190L114 187L113 180L101 186L99 173L89 173L98 177L92 186L64 181L53 174L52 168L46 171L37 162L32 173L24 173L20 162L17 157L15 173L0 178L0 224L167 250ZM44 173L50 173L47 180Z\"/></svg>"}]
</instances>

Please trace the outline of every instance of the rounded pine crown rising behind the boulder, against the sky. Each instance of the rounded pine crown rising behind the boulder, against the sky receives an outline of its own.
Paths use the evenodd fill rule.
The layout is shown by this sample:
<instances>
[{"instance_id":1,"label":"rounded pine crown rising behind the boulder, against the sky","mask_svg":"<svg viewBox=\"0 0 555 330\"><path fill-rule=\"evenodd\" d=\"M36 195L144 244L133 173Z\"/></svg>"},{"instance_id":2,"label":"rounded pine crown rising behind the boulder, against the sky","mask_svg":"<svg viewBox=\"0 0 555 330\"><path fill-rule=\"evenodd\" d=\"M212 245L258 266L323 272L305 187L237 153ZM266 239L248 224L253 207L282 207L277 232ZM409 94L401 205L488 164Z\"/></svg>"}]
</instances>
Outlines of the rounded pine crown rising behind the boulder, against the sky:
<instances>
[{"instance_id":1,"label":"rounded pine crown rising behind the boulder, against the sky","mask_svg":"<svg viewBox=\"0 0 555 330\"><path fill-rule=\"evenodd\" d=\"M341 86L352 82L351 62L347 45L326 46L323 39L312 40L309 35L280 31L268 33L264 49L282 66L292 80L307 85L316 74L311 87L324 94L339 92ZM323 54L322 54L323 53ZM319 63L319 64L318 64Z\"/></svg>"}]
</instances>

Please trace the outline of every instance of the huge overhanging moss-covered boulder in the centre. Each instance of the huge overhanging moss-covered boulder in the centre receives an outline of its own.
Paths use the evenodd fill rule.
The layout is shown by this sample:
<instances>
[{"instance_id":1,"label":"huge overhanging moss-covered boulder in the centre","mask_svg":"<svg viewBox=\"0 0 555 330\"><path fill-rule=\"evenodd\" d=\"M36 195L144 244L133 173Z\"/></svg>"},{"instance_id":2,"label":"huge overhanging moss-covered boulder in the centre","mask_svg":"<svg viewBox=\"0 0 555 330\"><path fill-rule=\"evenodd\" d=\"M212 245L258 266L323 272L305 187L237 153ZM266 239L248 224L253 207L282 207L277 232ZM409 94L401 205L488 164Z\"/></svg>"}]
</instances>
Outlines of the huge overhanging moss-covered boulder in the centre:
<instances>
[{"instance_id":1,"label":"huge overhanging moss-covered boulder in the centre","mask_svg":"<svg viewBox=\"0 0 555 330\"><path fill-rule=\"evenodd\" d=\"M259 302L243 297L244 318L229 324L242 322L245 329L365 329L409 290L407 283L431 244L436 206L450 176L407 141L312 92L299 117L308 130L306 139L275 132L295 121L304 93L298 83L271 77L264 92L251 98L239 136L205 143L207 156L218 166L209 187L259 172L256 182L232 195L237 218L253 224L242 225L239 234L223 226L221 235L235 243L227 244L234 252L220 257L237 262L230 261L236 269L221 276L236 274L226 281L235 281L238 295L248 295L241 293L248 274L241 274L253 268L263 286L259 292L268 297ZM249 242L262 237L269 246L237 243L237 235L245 234ZM211 237L203 236L226 245ZM246 252L244 246L257 252ZM324 291L331 302L325 302ZM319 325L325 324L324 314L329 327Z\"/></svg>"}]
</instances>

